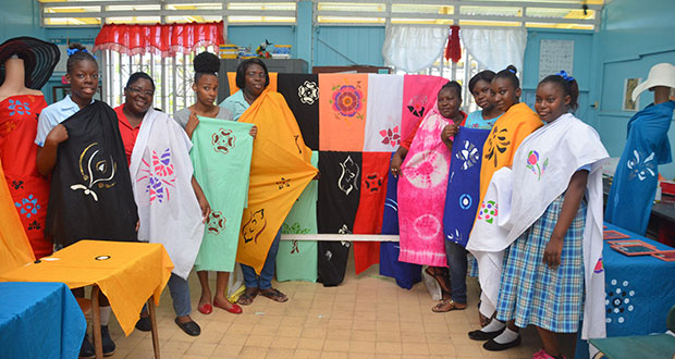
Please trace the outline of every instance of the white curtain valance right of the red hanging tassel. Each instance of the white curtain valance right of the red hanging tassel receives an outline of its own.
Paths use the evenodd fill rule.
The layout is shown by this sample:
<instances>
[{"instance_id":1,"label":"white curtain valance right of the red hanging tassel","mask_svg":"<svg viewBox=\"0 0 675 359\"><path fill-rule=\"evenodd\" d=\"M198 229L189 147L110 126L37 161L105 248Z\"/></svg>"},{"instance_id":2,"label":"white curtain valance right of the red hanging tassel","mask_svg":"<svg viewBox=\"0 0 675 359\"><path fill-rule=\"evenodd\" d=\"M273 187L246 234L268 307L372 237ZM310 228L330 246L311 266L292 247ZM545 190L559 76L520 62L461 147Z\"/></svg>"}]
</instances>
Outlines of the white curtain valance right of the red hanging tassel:
<instances>
[{"instance_id":1,"label":"white curtain valance right of the red hanging tassel","mask_svg":"<svg viewBox=\"0 0 675 359\"><path fill-rule=\"evenodd\" d=\"M514 65L521 73L527 45L525 27L467 27L459 30L459 37L481 70L499 72Z\"/></svg>"}]
</instances>

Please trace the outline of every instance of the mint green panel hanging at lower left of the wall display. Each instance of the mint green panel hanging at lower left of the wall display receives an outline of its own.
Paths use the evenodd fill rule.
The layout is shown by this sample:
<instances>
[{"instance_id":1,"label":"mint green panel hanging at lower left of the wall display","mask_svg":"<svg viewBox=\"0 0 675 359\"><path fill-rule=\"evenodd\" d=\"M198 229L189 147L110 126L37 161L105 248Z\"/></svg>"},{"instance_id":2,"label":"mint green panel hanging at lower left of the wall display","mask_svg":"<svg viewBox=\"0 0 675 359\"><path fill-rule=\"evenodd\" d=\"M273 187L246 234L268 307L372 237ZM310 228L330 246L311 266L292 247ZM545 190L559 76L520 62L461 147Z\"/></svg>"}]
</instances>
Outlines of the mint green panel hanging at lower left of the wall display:
<instances>
[{"instance_id":1,"label":"mint green panel hanging at lower left of the wall display","mask_svg":"<svg viewBox=\"0 0 675 359\"><path fill-rule=\"evenodd\" d=\"M319 163L319 153L311 152L311 164ZM281 233L316 234L318 183L312 181L286 216ZM277 253L277 281L317 281L318 245L316 240L281 240Z\"/></svg>"}]
</instances>

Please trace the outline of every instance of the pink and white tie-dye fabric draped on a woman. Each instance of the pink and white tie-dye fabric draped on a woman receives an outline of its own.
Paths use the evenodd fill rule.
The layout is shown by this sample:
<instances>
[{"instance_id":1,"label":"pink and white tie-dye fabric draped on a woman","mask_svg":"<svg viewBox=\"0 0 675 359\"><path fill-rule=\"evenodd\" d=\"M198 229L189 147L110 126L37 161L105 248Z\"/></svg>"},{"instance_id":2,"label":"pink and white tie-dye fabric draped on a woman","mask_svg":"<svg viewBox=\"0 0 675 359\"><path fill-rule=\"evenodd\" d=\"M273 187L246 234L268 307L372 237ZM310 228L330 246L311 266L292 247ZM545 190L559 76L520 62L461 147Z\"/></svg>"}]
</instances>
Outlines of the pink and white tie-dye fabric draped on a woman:
<instances>
[{"instance_id":1,"label":"pink and white tie-dye fabric draped on a woman","mask_svg":"<svg viewBox=\"0 0 675 359\"><path fill-rule=\"evenodd\" d=\"M445 267L443 207L447 190L450 150L441 140L443 127L452 120L434 106L417 129L413 145L401 165L398 180L398 260Z\"/></svg>"}]
</instances>

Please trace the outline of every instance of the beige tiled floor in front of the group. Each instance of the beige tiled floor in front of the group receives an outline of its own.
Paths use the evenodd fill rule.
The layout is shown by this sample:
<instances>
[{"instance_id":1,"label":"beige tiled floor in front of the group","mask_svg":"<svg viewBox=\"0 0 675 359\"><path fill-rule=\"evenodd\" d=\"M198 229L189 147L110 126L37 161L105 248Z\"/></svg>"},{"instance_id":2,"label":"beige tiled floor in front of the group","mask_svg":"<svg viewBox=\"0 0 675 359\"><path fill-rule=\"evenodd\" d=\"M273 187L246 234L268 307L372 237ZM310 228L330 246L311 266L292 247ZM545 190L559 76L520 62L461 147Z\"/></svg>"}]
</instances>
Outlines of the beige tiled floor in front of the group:
<instances>
[{"instance_id":1,"label":"beige tiled floor in front of the group","mask_svg":"<svg viewBox=\"0 0 675 359\"><path fill-rule=\"evenodd\" d=\"M211 275L214 276L214 275ZM191 276L193 319L201 335L191 337L173 322L165 289L158 310L161 358L531 358L540 342L524 331L523 345L502 352L486 351L467 332L478 327L478 284L468 281L469 306L464 311L433 313L424 284L405 290L380 277L377 265L354 274L353 260L338 287L317 283L274 283L291 299L285 304L257 297L244 313L214 308L196 310L199 283ZM152 358L150 333L134 331L124 337L111 323L118 349L111 357Z\"/></svg>"}]
</instances>

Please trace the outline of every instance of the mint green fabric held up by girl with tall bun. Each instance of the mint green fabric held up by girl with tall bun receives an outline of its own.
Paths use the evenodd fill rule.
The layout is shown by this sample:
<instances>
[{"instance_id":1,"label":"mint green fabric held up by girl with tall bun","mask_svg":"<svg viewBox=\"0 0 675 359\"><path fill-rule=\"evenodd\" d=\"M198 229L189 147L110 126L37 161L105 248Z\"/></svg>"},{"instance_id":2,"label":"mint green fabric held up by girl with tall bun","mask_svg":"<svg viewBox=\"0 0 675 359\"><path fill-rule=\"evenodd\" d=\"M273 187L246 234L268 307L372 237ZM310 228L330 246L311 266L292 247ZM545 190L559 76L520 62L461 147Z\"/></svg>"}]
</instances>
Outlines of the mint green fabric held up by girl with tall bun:
<instances>
[{"instance_id":1,"label":"mint green fabric held up by girl with tall bun","mask_svg":"<svg viewBox=\"0 0 675 359\"><path fill-rule=\"evenodd\" d=\"M189 158L211 207L195 270L232 272L248 197L253 124L199 116Z\"/></svg>"}]
</instances>

